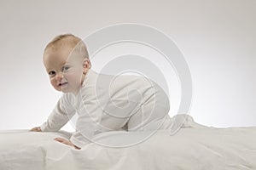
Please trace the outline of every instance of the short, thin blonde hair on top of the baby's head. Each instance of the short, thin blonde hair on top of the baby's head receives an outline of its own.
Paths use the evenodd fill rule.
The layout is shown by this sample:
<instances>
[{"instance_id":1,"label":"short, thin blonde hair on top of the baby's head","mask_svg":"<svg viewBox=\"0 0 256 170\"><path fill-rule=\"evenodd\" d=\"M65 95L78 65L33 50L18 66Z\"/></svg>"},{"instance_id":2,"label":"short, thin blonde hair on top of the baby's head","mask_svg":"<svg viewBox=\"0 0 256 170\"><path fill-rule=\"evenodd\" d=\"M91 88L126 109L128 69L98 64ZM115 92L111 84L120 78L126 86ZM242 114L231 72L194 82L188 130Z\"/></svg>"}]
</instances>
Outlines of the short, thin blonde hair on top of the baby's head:
<instances>
[{"instance_id":1,"label":"short, thin blonde hair on top of the baby's head","mask_svg":"<svg viewBox=\"0 0 256 170\"><path fill-rule=\"evenodd\" d=\"M44 48L44 53L48 49L58 49L62 48L65 45L71 46L74 50L78 50L84 58L89 59L89 54L83 40L79 37L74 36L73 34L61 34L55 37L51 42L49 42Z\"/></svg>"}]
</instances>

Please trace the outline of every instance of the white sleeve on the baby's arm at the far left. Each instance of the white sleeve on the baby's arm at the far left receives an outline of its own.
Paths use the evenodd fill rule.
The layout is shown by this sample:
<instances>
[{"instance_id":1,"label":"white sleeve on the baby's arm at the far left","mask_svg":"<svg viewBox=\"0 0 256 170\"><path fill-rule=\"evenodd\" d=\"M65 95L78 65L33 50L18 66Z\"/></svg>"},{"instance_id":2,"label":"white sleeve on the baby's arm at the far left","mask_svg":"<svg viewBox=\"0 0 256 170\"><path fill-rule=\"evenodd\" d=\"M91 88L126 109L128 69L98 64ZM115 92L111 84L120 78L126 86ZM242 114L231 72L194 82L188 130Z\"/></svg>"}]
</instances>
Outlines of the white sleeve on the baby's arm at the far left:
<instances>
[{"instance_id":1,"label":"white sleeve on the baby's arm at the far left","mask_svg":"<svg viewBox=\"0 0 256 170\"><path fill-rule=\"evenodd\" d=\"M46 122L41 125L43 132L56 132L61 129L75 114L72 101L67 94L58 100L55 109L51 112Z\"/></svg>"}]
</instances>

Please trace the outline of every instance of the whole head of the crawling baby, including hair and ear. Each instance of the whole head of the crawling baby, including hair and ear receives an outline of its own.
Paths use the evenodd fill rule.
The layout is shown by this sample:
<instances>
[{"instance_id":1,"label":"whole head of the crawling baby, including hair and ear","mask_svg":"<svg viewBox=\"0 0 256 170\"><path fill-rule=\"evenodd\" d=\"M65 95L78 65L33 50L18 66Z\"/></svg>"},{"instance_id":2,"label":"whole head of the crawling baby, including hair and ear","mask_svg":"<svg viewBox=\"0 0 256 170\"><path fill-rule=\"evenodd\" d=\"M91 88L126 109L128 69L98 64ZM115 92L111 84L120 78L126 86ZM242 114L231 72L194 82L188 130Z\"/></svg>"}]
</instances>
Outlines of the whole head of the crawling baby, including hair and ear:
<instances>
[{"instance_id":1,"label":"whole head of the crawling baby, including hair and ear","mask_svg":"<svg viewBox=\"0 0 256 170\"><path fill-rule=\"evenodd\" d=\"M72 34L55 37L44 49L44 67L57 91L77 94L90 69L84 42Z\"/></svg>"}]
</instances>

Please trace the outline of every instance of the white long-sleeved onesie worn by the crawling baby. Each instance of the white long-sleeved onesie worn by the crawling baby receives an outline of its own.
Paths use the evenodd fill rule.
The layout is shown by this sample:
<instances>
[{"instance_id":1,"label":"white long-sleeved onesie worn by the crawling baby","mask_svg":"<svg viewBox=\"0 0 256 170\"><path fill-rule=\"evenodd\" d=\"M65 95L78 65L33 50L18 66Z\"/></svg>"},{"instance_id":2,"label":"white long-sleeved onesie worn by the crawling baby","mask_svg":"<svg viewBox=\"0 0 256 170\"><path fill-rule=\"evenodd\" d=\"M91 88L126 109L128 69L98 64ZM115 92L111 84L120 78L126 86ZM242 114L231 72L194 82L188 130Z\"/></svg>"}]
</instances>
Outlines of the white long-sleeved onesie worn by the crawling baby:
<instances>
[{"instance_id":1,"label":"white long-sleeved onesie worn by the crawling baby","mask_svg":"<svg viewBox=\"0 0 256 170\"><path fill-rule=\"evenodd\" d=\"M81 148L98 133L160 128L169 109L163 89L146 77L111 76L90 69L79 94L63 94L41 130L58 131L77 113L70 141Z\"/></svg>"}]
</instances>

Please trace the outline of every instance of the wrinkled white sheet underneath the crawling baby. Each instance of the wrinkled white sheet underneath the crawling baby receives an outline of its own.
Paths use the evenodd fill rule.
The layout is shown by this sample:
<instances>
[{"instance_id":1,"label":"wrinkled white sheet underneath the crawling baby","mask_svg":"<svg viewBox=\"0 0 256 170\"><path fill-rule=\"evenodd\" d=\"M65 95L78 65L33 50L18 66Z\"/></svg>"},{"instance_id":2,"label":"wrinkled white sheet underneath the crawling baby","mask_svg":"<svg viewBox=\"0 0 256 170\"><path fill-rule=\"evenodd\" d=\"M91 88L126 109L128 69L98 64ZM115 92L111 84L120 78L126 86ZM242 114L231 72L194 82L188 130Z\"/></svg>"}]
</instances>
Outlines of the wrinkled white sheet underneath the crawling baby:
<instances>
[{"instance_id":1,"label":"wrinkled white sheet underneath the crawling baby","mask_svg":"<svg viewBox=\"0 0 256 170\"><path fill-rule=\"evenodd\" d=\"M81 150L54 140L69 139L71 133L64 131L0 131L0 169L256 169L256 127L205 127L193 120L186 123L172 135L167 129L150 135L104 133ZM149 137L136 143L143 135Z\"/></svg>"}]
</instances>

